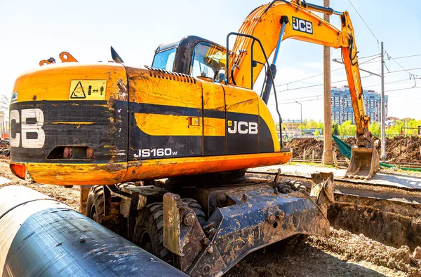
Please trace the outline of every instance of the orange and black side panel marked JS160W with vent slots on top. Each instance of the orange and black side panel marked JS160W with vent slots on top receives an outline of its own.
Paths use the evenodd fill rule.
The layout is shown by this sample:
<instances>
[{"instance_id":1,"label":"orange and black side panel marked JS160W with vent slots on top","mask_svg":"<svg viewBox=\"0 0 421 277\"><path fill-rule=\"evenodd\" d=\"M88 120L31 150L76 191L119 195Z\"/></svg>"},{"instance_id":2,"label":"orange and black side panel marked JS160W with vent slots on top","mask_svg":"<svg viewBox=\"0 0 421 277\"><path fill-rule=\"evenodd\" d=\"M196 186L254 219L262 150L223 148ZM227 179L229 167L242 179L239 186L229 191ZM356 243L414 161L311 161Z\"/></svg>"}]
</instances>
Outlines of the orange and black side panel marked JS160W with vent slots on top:
<instances>
[{"instance_id":1,"label":"orange and black side panel marked JS160W with vent slots on top","mask_svg":"<svg viewBox=\"0 0 421 277\"><path fill-rule=\"evenodd\" d=\"M130 160L203 155L201 83L167 72L127 67Z\"/></svg>"}]
</instances>

